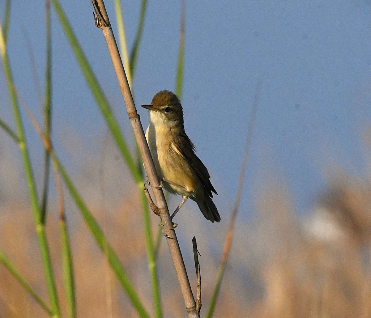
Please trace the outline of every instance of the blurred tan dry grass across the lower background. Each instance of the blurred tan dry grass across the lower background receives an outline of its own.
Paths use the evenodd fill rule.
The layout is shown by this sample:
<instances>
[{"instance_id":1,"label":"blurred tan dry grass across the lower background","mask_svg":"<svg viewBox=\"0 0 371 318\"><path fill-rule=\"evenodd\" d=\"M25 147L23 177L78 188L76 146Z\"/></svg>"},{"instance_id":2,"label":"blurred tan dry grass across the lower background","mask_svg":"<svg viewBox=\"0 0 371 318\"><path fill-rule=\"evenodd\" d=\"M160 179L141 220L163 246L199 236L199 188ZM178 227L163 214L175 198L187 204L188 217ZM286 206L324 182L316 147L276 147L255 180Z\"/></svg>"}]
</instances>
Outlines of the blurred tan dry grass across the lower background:
<instances>
[{"instance_id":1,"label":"blurred tan dry grass across the lower background","mask_svg":"<svg viewBox=\"0 0 371 318\"><path fill-rule=\"evenodd\" d=\"M150 279L137 190L113 146L108 147L104 169L99 158L89 159L87 153L82 156L85 163L74 179L150 309ZM22 173L7 152L0 152L0 165L0 244L30 284L47 299ZM102 170L105 198L99 180ZM261 193L256 220L249 224L237 222L215 317L371 317L370 195L367 180L336 175L318 198L315 211L299 218L285 186L276 185ZM65 201L78 317L137 317L68 195ZM214 228L204 223L196 208L191 210L193 207L188 205L177 216L177 233L193 287L193 235L198 241L202 255L202 316L214 287L227 222ZM49 211L47 235L63 308L58 213L53 200ZM157 223L153 216L154 233ZM165 317L183 317L183 298L165 244L160 248L158 266ZM0 317L47 317L3 266Z\"/></svg>"}]
</instances>

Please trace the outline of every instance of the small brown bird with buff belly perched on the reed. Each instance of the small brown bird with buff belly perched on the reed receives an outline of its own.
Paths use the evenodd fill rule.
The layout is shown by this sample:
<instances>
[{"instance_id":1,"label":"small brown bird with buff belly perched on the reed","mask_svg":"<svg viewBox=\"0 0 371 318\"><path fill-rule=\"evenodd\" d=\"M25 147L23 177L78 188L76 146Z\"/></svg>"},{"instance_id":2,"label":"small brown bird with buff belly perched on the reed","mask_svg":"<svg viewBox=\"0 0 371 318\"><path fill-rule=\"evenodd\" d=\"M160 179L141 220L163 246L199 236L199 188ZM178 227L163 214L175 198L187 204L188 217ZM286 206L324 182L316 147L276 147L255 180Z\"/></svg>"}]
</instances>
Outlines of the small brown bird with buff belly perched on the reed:
<instances>
[{"instance_id":1,"label":"small brown bird with buff belly perched on the reed","mask_svg":"<svg viewBox=\"0 0 371 318\"><path fill-rule=\"evenodd\" d=\"M212 192L217 192L185 133L183 108L177 95L162 90L153 97L151 105L142 107L150 110L150 125L145 137L162 185L168 192L183 196L171 219L190 198L206 219L220 222L218 209L211 200Z\"/></svg>"}]
</instances>

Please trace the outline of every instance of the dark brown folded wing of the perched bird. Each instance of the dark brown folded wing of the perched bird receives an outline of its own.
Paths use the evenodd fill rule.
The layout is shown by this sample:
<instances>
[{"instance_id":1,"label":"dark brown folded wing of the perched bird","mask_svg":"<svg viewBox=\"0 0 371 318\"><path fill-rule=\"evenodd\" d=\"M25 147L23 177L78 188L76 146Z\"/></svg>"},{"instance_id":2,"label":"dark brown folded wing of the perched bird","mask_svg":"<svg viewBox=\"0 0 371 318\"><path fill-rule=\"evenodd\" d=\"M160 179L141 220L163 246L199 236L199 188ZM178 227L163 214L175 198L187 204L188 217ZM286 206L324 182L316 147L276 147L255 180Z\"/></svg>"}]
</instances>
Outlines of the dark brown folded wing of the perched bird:
<instances>
[{"instance_id":1,"label":"dark brown folded wing of the perched bird","mask_svg":"<svg viewBox=\"0 0 371 318\"><path fill-rule=\"evenodd\" d=\"M188 136L185 134L178 135L172 143L172 147L177 153L183 156L185 160L187 160L191 168L196 172L198 178L203 183L209 196L211 196L211 198L213 197L211 191L218 194L210 182L209 171L207 171L205 165L196 156L194 145Z\"/></svg>"}]
</instances>

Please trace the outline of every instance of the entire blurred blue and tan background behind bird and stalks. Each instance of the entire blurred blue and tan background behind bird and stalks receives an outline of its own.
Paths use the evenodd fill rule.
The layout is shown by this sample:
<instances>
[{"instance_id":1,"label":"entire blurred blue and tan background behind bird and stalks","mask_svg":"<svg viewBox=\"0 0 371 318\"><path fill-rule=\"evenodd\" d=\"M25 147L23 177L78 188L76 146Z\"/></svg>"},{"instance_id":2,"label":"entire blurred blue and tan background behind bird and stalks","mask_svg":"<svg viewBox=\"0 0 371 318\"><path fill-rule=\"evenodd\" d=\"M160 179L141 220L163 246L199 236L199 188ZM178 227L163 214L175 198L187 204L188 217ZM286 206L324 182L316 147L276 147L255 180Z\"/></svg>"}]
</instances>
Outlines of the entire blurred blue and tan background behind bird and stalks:
<instances>
[{"instance_id":1,"label":"entire blurred blue and tan background behind bird and stalks","mask_svg":"<svg viewBox=\"0 0 371 318\"><path fill-rule=\"evenodd\" d=\"M4 2L0 0L1 12ZM124 135L132 140L90 1L62 5ZM113 3L105 5L115 32ZM140 3L121 5L130 47ZM7 47L17 89L39 122L42 103L35 77L43 85L44 6L44 1L12 1ZM178 2L148 2L133 82L137 105L150 103L159 90L174 89L180 11ZM52 13L55 151L151 308L138 191ZM246 179L215 317L371 316L370 17L368 0L186 2L185 129L209 169L221 215L220 224L211 224L187 201L175 218L193 283L193 236L202 255L201 315L214 288L260 80ZM1 119L14 127L3 76L0 96ZM147 111L138 112L146 127ZM43 146L26 116L24 124L41 185ZM0 184L0 245L46 297L19 149L2 130ZM61 276L53 185L51 191L47 229ZM78 317L136 317L67 191L65 197ZM178 201L170 197L170 210ZM152 220L156 232L158 220ZM184 315L164 241L159 277L166 317ZM1 317L43 317L1 266L0 281Z\"/></svg>"}]
</instances>

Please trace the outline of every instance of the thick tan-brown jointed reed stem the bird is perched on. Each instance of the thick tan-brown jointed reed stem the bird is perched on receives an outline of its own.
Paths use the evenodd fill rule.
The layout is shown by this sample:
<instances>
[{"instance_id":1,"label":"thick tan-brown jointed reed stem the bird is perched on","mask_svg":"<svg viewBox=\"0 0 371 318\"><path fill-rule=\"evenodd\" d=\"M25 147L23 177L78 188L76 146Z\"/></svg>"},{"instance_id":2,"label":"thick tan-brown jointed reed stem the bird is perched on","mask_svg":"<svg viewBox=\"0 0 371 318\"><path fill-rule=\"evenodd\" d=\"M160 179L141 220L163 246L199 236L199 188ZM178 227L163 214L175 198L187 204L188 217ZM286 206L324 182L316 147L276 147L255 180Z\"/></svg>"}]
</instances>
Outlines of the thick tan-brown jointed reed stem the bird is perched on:
<instances>
[{"instance_id":1,"label":"thick tan-brown jointed reed stem the bird is perched on","mask_svg":"<svg viewBox=\"0 0 371 318\"><path fill-rule=\"evenodd\" d=\"M142 155L144 168L152 185L155 202L161 218L161 223L164 228L164 234L167 237L167 243L169 246L171 257L173 258L174 267L183 294L185 307L187 308L189 317L200 317L200 315L196 311L196 302L194 300L188 275L185 270L183 257L181 255L177 236L175 235L175 231L173 228L173 222L171 222L170 220L170 214L167 203L165 201L164 193L160 188L160 182L154 167L150 149L148 148L147 141L145 140L144 130L139 119L137 109L135 108L124 66L122 65L117 43L112 32L111 24L109 23L108 14L104 6L104 1L92 0L92 4L96 14L95 24L97 27L102 29L104 38L106 40L121 94L125 102L132 129L134 131L134 136L137 140L139 151Z\"/></svg>"}]
</instances>

